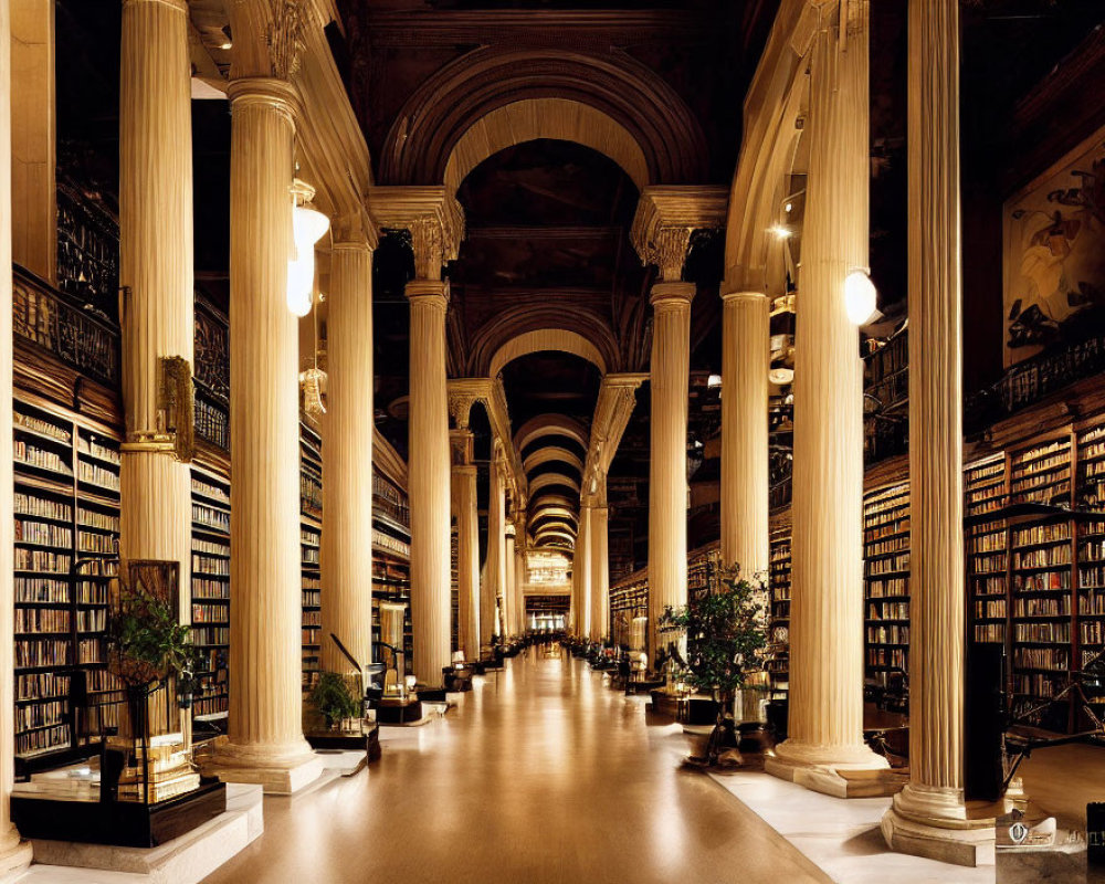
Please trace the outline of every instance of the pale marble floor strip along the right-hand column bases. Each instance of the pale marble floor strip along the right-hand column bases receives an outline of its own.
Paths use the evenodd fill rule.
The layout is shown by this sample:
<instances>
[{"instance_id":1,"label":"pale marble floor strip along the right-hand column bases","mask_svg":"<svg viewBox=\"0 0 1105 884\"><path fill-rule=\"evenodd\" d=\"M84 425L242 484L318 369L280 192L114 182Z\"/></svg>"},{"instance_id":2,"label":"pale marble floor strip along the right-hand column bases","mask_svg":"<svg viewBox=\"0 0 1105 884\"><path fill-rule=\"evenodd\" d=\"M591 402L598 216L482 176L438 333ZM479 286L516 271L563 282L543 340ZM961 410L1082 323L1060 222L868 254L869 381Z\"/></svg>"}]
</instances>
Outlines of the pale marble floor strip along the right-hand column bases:
<instances>
[{"instance_id":1,"label":"pale marble floor strip along the right-hand column bases","mask_svg":"<svg viewBox=\"0 0 1105 884\"><path fill-rule=\"evenodd\" d=\"M886 846L890 798L841 801L766 774L711 775L832 881L846 884L993 884L993 867L965 869Z\"/></svg>"}]
</instances>

